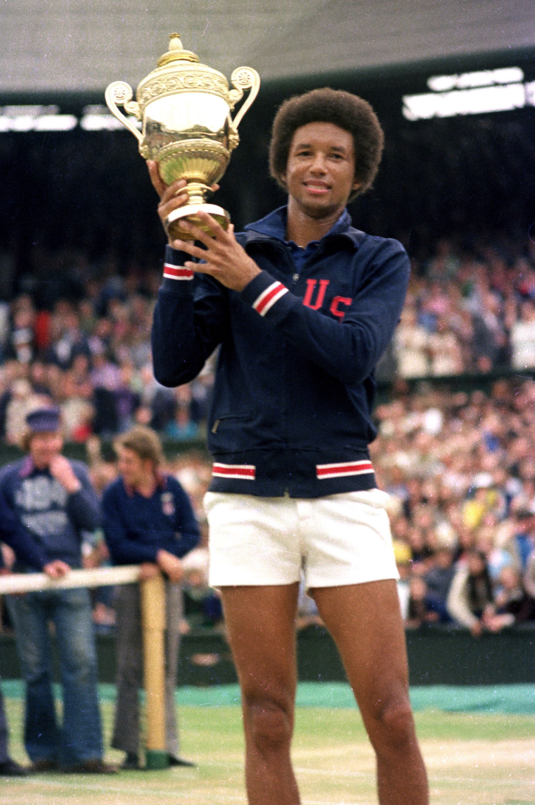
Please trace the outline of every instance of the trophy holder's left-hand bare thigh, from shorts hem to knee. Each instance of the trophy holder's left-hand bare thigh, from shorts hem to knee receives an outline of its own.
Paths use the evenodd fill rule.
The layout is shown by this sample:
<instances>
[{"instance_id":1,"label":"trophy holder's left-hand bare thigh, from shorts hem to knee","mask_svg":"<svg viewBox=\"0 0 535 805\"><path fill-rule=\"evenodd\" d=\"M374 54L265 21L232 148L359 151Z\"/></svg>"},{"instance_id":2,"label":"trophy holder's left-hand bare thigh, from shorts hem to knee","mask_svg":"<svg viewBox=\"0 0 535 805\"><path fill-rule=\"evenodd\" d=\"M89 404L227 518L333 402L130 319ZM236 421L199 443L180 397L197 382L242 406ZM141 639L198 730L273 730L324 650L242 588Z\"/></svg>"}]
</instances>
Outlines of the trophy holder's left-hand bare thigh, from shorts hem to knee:
<instances>
[{"instance_id":1,"label":"trophy holder's left-hand bare thigh, from shorts hem to knee","mask_svg":"<svg viewBox=\"0 0 535 805\"><path fill-rule=\"evenodd\" d=\"M245 706L270 700L291 709L298 584L223 587L221 595Z\"/></svg>"}]
</instances>

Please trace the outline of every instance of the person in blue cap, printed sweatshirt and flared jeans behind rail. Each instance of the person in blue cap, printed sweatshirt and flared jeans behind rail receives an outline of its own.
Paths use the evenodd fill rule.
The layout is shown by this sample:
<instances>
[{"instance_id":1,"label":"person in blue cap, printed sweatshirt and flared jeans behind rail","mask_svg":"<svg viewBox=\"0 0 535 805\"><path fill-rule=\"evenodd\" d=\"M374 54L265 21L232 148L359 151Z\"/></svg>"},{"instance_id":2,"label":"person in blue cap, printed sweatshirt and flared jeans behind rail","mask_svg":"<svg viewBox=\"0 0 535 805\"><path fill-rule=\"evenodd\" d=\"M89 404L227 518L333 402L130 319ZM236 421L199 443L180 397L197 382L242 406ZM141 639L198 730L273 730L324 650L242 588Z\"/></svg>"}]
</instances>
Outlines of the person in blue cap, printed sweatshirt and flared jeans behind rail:
<instances>
[{"instance_id":1,"label":"person in blue cap, printed sweatshirt and flared jeans behind rail","mask_svg":"<svg viewBox=\"0 0 535 805\"><path fill-rule=\"evenodd\" d=\"M29 532L49 576L80 568L82 532L94 530L100 506L80 462L61 455L60 412L41 408L27 416L28 454L2 469L2 505L17 531ZM15 571L31 572L13 545ZM50 589L7 596L6 603L26 679L24 745L32 770L114 771L102 761L97 696L97 652L88 590ZM63 685L63 723L52 694L49 621L56 629Z\"/></svg>"}]
</instances>

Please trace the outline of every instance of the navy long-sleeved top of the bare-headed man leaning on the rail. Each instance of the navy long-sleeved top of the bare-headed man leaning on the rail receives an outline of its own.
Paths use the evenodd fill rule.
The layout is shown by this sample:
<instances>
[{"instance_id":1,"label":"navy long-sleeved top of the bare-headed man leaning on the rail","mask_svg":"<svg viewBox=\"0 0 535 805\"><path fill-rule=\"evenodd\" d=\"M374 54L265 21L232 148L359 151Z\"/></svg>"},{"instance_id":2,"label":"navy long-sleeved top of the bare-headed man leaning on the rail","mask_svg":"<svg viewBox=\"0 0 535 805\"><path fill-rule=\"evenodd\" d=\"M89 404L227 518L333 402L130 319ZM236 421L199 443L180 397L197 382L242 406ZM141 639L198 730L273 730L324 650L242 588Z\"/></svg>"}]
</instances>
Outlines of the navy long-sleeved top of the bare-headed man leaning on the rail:
<instances>
[{"instance_id":1,"label":"navy long-sleeved top of the bare-headed man leaning on the rail","mask_svg":"<svg viewBox=\"0 0 535 805\"><path fill-rule=\"evenodd\" d=\"M189 497L171 475L159 479L150 497L117 478L105 489L102 513L114 564L155 562L159 550L180 558L199 543L199 526Z\"/></svg>"}]
</instances>

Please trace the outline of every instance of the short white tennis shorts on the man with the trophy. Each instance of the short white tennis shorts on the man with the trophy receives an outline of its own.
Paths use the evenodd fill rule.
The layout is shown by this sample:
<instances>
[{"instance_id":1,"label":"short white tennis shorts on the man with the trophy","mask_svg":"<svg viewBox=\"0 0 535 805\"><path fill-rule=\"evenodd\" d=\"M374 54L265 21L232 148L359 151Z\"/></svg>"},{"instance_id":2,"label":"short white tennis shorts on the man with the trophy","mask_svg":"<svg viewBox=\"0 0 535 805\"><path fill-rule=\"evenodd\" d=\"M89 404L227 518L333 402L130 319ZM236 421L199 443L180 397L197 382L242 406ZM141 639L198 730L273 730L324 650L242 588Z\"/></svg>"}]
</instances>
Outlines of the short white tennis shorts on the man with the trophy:
<instances>
[{"instance_id":1,"label":"short white tennis shorts on the man with the trophy","mask_svg":"<svg viewBox=\"0 0 535 805\"><path fill-rule=\"evenodd\" d=\"M398 579L380 489L327 497L255 497L208 492L210 584L306 588Z\"/></svg>"}]
</instances>

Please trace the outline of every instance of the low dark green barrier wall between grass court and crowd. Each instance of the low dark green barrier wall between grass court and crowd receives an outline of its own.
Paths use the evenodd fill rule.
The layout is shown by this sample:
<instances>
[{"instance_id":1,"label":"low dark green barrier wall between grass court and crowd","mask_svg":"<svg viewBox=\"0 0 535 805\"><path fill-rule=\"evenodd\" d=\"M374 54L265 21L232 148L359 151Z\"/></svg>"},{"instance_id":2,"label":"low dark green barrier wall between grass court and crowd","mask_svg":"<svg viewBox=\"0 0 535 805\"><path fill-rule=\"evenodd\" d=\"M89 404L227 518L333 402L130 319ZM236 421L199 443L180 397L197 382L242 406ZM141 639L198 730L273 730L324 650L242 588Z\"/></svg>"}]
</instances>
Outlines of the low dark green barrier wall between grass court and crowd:
<instances>
[{"instance_id":1,"label":"low dark green barrier wall between grass court and crowd","mask_svg":"<svg viewBox=\"0 0 535 805\"><path fill-rule=\"evenodd\" d=\"M535 683L535 625L516 626L476 640L464 630L424 628L406 633L410 684L500 685ZM302 682L343 682L344 668L326 630L311 627L298 635L298 676ZM99 678L115 679L115 639L97 636ZM59 679L56 658L56 679ZM19 679L14 638L0 635L0 677ZM195 632L183 638L179 686L237 681L227 642L220 634Z\"/></svg>"}]
</instances>

